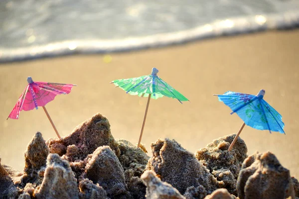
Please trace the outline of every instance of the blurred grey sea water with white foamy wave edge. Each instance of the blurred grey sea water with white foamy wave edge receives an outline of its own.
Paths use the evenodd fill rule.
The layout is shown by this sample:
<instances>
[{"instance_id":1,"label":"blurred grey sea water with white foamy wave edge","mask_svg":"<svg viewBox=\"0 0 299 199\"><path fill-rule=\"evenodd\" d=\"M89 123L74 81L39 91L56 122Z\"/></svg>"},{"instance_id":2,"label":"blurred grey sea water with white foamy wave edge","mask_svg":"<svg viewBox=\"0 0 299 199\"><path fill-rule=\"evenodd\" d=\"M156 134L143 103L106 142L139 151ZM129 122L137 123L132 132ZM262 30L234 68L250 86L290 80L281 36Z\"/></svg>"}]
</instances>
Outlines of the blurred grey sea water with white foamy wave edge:
<instances>
[{"instance_id":1,"label":"blurred grey sea water with white foamy wave edge","mask_svg":"<svg viewBox=\"0 0 299 199\"><path fill-rule=\"evenodd\" d=\"M131 50L298 24L298 0L1 0L0 61Z\"/></svg>"}]
</instances>

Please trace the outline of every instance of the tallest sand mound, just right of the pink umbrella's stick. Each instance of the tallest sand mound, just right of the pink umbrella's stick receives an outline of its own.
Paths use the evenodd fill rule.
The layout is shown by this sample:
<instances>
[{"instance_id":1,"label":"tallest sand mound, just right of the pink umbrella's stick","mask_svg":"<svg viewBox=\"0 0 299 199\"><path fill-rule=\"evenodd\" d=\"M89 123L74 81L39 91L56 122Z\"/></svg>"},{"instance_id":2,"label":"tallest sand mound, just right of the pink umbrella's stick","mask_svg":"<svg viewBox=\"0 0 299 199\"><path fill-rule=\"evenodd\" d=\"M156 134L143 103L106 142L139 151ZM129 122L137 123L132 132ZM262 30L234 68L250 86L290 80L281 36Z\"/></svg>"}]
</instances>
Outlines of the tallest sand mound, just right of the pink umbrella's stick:
<instances>
[{"instance_id":1,"label":"tallest sand mound, just right of the pink umbrella's stick","mask_svg":"<svg viewBox=\"0 0 299 199\"><path fill-rule=\"evenodd\" d=\"M99 146L110 146L117 156L120 155L117 142L114 140L108 119L97 113L79 124L73 132L47 141L51 153L66 155L70 162L82 160L92 154Z\"/></svg>"}]
</instances>

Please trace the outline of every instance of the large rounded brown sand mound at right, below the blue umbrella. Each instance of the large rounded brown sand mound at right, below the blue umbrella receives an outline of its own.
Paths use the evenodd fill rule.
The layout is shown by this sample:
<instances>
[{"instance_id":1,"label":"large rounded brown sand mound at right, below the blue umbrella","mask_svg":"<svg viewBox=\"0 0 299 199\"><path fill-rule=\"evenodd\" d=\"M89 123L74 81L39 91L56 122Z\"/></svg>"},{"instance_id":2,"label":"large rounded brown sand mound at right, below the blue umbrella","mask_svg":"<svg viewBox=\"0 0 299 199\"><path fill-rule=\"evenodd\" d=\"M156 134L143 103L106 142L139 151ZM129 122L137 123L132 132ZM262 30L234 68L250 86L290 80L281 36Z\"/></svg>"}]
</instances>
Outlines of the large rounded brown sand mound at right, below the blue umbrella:
<instances>
[{"instance_id":1,"label":"large rounded brown sand mound at right, below the blue umbrella","mask_svg":"<svg viewBox=\"0 0 299 199\"><path fill-rule=\"evenodd\" d=\"M256 153L243 162L237 187L240 199L295 198L290 171L271 152Z\"/></svg>"}]
</instances>

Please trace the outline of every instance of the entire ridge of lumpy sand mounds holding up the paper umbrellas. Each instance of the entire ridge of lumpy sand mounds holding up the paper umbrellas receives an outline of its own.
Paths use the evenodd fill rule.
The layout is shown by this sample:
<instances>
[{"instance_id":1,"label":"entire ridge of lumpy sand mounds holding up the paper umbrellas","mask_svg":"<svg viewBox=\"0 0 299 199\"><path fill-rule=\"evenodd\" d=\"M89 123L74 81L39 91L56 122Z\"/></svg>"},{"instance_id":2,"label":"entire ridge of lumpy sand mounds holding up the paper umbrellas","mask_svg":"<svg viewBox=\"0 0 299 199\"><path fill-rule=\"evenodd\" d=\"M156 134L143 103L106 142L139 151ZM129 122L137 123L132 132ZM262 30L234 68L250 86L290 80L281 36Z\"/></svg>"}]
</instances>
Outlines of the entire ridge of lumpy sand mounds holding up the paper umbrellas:
<instances>
[{"instance_id":1,"label":"entire ridge of lumpy sand mounds holding up the paper umbrellas","mask_svg":"<svg viewBox=\"0 0 299 199\"><path fill-rule=\"evenodd\" d=\"M1 165L5 199L285 199L299 197L274 154L247 157L235 135L213 140L196 155L175 140L146 149L115 140L106 117L96 114L62 139L46 142L37 132L25 151L24 172ZM223 189L225 188L225 189Z\"/></svg>"}]
</instances>

